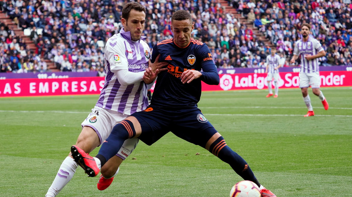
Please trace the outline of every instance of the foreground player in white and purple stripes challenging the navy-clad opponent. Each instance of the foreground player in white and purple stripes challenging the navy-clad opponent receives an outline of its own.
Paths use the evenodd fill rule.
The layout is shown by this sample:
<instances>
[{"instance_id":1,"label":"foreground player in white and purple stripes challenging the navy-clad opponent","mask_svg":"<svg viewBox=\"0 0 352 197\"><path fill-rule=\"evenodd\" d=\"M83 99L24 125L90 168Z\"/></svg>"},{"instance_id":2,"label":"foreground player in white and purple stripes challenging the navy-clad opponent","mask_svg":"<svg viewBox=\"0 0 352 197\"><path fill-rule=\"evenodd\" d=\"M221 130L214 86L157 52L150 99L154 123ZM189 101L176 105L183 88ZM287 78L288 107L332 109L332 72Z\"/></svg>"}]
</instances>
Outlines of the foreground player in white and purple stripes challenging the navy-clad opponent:
<instances>
[{"instance_id":1,"label":"foreground player in white and purple stripes challenging the navy-clad opponent","mask_svg":"<svg viewBox=\"0 0 352 197\"><path fill-rule=\"evenodd\" d=\"M148 68L148 65L150 67L148 69L156 71L167 63L152 64L149 61L150 48L143 41L145 37L142 37L144 22L145 8L142 5L131 2L124 6L121 19L124 28L119 34L109 38L105 46L107 74L104 87L92 113L82 122L82 131L76 142L76 146L84 151L93 151L105 141L115 124L148 106L147 85L143 81L146 79L143 71ZM130 67L130 65L133 66ZM111 184L119 165L131 154L137 143L137 138L126 140L119 153L108 161L108 166L103 167L102 176L98 181L99 190L104 190ZM71 180L76 169L77 164L69 155L62 162L45 196L56 196Z\"/></svg>"}]
</instances>

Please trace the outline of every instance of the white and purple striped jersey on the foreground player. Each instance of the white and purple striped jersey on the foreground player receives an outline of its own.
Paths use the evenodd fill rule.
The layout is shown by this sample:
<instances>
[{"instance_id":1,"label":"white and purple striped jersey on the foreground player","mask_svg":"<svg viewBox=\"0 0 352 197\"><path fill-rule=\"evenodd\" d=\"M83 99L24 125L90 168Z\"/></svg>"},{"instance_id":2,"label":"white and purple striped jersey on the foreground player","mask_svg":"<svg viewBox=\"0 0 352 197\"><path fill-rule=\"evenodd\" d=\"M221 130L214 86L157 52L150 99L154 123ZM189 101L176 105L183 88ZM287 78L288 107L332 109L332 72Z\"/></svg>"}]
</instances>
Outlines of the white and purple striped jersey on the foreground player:
<instances>
[{"instance_id":1,"label":"white and purple striped jersey on the foreground player","mask_svg":"<svg viewBox=\"0 0 352 197\"><path fill-rule=\"evenodd\" d=\"M108 39L104 50L105 83L96 106L131 115L148 106L147 86L144 81L124 86L119 83L114 70L128 69L129 72L143 72L148 67L150 48L144 42L131 40L131 33L120 33Z\"/></svg>"}]
</instances>

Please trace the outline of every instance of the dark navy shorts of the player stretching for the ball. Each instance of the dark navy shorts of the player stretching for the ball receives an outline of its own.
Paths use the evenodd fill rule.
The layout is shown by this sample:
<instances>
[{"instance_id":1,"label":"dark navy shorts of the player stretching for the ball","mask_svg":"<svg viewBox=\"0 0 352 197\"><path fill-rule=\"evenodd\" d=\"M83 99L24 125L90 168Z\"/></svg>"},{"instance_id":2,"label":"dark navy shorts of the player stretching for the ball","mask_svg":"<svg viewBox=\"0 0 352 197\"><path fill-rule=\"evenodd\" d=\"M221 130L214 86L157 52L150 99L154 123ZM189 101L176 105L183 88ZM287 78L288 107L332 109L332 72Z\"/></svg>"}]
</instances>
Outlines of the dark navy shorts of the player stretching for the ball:
<instances>
[{"instance_id":1,"label":"dark navy shorts of the player stretching for the ball","mask_svg":"<svg viewBox=\"0 0 352 197\"><path fill-rule=\"evenodd\" d=\"M136 112L131 116L136 117L142 127L139 139L148 145L171 131L183 140L205 147L210 137L217 132L196 107L158 108L149 106L146 110Z\"/></svg>"}]
</instances>

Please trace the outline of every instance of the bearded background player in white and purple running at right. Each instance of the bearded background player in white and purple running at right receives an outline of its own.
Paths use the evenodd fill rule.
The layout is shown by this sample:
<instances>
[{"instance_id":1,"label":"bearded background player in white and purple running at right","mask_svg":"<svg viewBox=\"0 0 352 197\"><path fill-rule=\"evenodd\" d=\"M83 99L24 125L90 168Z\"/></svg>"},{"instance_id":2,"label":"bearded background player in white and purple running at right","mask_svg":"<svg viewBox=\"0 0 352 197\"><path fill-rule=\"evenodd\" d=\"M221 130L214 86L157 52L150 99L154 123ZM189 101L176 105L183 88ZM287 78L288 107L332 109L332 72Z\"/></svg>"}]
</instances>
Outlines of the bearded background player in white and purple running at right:
<instances>
[{"instance_id":1,"label":"bearded background player in white and purple running at right","mask_svg":"<svg viewBox=\"0 0 352 197\"><path fill-rule=\"evenodd\" d=\"M323 103L324 109L328 110L327 103L322 91L320 91L320 77L319 77L319 62L318 58L325 56L325 50L321 47L318 40L309 36L310 25L303 23L301 26L301 33L303 38L295 43L293 57L291 63L295 63L298 55L301 57L301 71L300 71L300 88L302 90L303 100L308 108L308 113L304 115L314 116L312 104L308 95L309 84L312 87L313 94L319 97Z\"/></svg>"}]
</instances>

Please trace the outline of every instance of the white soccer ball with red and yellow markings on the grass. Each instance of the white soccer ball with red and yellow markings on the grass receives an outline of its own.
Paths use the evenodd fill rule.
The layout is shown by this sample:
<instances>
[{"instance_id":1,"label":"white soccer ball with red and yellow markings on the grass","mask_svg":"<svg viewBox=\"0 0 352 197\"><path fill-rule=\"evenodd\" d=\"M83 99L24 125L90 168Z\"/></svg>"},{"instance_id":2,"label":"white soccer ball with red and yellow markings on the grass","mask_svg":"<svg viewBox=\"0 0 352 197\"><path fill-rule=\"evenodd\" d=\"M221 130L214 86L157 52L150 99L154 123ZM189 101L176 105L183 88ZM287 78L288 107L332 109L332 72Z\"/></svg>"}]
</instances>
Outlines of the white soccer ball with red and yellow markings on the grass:
<instances>
[{"instance_id":1,"label":"white soccer ball with red and yellow markings on the grass","mask_svg":"<svg viewBox=\"0 0 352 197\"><path fill-rule=\"evenodd\" d=\"M252 181L240 181L232 187L230 197L260 197L259 187Z\"/></svg>"}]
</instances>

